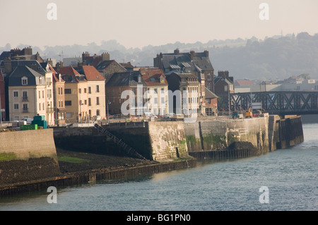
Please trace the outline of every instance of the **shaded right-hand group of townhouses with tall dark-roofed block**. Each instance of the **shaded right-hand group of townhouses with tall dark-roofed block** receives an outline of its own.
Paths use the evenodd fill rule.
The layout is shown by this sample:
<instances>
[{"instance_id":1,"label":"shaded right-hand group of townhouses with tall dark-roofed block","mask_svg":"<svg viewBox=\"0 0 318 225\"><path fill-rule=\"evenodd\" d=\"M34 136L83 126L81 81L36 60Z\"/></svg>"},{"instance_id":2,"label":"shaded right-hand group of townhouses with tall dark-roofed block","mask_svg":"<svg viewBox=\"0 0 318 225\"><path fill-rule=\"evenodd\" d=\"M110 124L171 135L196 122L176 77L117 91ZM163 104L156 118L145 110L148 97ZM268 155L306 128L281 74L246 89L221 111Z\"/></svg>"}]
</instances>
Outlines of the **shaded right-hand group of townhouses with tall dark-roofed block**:
<instances>
[{"instance_id":1,"label":"shaded right-hand group of townhouses with tall dark-roofed block","mask_svg":"<svg viewBox=\"0 0 318 225\"><path fill-rule=\"evenodd\" d=\"M176 49L173 54L160 53L154 59L153 68L136 68L130 63L110 60L108 53L90 56L87 51L82 54L82 63L95 66L105 78L110 114L122 114L123 110L134 115L141 112L166 115L180 110L184 113L184 105L199 115L216 114L218 97L213 93L214 69L208 51L180 53ZM174 95L169 96L168 90ZM180 96L175 96L177 90ZM187 101L183 95L186 90ZM134 95L129 101L129 95L122 96L128 92ZM181 100L178 102L176 97Z\"/></svg>"}]
</instances>

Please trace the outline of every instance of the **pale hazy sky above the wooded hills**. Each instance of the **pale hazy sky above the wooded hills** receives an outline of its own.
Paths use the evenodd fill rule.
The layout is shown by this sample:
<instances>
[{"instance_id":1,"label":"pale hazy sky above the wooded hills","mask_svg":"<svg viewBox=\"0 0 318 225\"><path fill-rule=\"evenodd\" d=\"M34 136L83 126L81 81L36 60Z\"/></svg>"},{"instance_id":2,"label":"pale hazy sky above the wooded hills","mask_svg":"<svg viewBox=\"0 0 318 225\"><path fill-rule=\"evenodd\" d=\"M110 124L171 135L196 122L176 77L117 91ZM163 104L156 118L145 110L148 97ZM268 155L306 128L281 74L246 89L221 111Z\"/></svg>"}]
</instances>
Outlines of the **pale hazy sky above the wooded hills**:
<instances>
[{"instance_id":1,"label":"pale hazy sky above the wooded hills","mask_svg":"<svg viewBox=\"0 0 318 225\"><path fill-rule=\"evenodd\" d=\"M49 20L49 3L57 19ZM261 3L269 20L261 20ZM49 15L54 15L49 13ZM264 15L264 14L262 14ZM116 39L125 47L263 39L318 32L317 0L0 0L0 47L7 43L44 47L100 44Z\"/></svg>"}]
</instances>

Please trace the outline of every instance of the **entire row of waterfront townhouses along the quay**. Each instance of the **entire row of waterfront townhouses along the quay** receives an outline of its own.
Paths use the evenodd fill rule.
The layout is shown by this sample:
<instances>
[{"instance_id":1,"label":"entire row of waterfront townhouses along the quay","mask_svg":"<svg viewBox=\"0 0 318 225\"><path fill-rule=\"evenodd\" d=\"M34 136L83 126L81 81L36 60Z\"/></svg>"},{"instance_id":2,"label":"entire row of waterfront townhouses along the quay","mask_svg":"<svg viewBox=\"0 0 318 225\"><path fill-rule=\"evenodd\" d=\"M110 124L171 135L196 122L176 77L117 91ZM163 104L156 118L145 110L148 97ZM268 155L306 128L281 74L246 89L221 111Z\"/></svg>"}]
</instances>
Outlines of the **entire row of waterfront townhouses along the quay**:
<instances>
[{"instance_id":1,"label":"entire row of waterfront townhouses along the quay","mask_svg":"<svg viewBox=\"0 0 318 225\"><path fill-rule=\"evenodd\" d=\"M117 63L108 53L90 56L88 52L83 52L81 60L71 59L68 66L61 62L53 68L38 54L32 55L32 49L27 51L30 57L17 50L6 59L1 60L6 52L0 55L8 120L39 114L54 125L126 112L216 114L218 96L213 91L217 88L208 51L160 53L154 67L144 68Z\"/></svg>"}]
</instances>

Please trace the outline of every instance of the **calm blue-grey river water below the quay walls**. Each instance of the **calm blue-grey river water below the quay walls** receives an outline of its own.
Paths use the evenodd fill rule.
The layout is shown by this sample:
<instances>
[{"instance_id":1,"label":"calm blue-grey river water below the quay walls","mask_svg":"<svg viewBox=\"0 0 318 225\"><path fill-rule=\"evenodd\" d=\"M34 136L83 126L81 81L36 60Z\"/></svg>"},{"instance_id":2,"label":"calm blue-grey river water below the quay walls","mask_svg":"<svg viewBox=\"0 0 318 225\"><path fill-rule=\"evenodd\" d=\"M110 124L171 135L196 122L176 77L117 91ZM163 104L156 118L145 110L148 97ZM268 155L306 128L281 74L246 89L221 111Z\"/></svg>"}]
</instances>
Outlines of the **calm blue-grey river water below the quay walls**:
<instances>
[{"instance_id":1,"label":"calm blue-grey river water below the quay walls","mask_svg":"<svg viewBox=\"0 0 318 225\"><path fill-rule=\"evenodd\" d=\"M314 116L317 117L317 116ZM305 142L259 157L198 162L195 168L0 199L0 210L318 210L318 120ZM267 187L265 193L261 187ZM261 203L261 200L269 200Z\"/></svg>"}]
</instances>

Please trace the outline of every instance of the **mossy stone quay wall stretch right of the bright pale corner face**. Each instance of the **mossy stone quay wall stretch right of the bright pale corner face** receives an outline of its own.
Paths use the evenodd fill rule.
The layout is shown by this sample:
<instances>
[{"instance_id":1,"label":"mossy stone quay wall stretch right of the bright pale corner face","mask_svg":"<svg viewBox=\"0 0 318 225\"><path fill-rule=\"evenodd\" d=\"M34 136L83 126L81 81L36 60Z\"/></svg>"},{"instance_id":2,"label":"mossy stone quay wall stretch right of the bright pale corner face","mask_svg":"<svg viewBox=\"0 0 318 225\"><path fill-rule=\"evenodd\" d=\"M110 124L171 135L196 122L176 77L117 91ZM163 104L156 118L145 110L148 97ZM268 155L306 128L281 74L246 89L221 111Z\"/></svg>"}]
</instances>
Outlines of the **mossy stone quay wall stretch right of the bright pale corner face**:
<instances>
[{"instance_id":1,"label":"mossy stone quay wall stretch right of the bright pale corner face","mask_svg":"<svg viewBox=\"0 0 318 225\"><path fill-rule=\"evenodd\" d=\"M189 152L225 150L235 141L251 142L261 152L269 152L268 132L268 116L223 120L199 118L196 123L184 123Z\"/></svg>"}]
</instances>

